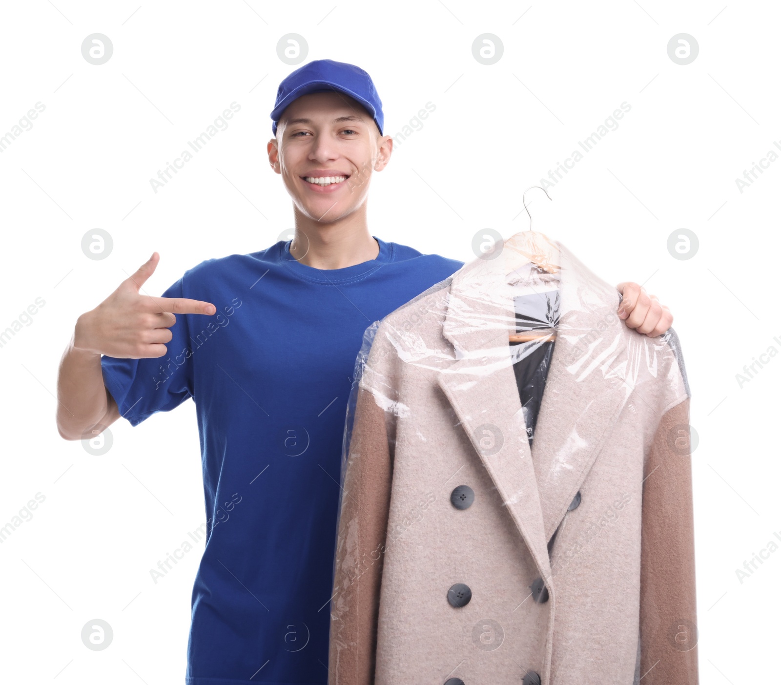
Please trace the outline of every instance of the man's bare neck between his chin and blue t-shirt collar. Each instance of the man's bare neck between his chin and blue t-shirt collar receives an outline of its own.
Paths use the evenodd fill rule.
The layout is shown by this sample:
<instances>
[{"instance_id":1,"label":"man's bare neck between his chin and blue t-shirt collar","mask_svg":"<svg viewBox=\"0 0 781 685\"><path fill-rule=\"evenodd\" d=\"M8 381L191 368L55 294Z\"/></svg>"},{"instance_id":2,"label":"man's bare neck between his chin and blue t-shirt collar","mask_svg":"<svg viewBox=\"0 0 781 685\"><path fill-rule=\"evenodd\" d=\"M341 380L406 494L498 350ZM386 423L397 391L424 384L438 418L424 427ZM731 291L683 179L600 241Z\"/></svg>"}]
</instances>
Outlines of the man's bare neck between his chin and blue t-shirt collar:
<instances>
[{"instance_id":1,"label":"man's bare neck between his chin and blue t-shirt collar","mask_svg":"<svg viewBox=\"0 0 781 685\"><path fill-rule=\"evenodd\" d=\"M380 245L369 234L366 203L333 223L320 223L294 208L295 237L291 255L316 269L344 269L380 254Z\"/></svg>"}]
</instances>

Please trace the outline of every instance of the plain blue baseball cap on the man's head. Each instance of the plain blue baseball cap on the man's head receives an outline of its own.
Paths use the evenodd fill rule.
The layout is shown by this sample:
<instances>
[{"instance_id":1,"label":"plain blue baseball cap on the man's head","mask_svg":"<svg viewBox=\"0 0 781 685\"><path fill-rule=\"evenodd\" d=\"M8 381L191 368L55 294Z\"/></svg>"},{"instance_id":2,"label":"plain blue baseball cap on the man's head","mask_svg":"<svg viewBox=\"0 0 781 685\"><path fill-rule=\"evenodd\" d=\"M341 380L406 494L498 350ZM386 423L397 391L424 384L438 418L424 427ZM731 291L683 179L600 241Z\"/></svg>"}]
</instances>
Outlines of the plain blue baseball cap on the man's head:
<instances>
[{"instance_id":1,"label":"plain blue baseball cap on the man's head","mask_svg":"<svg viewBox=\"0 0 781 685\"><path fill-rule=\"evenodd\" d=\"M372 77L360 67L333 59L316 59L290 73L276 91L276 103L271 112L271 130L276 136L276 123L282 112L296 98L309 93L341 91L360 102L374 118L380 135L383 134L383 103Z\"/></svg>"}]
</instances>

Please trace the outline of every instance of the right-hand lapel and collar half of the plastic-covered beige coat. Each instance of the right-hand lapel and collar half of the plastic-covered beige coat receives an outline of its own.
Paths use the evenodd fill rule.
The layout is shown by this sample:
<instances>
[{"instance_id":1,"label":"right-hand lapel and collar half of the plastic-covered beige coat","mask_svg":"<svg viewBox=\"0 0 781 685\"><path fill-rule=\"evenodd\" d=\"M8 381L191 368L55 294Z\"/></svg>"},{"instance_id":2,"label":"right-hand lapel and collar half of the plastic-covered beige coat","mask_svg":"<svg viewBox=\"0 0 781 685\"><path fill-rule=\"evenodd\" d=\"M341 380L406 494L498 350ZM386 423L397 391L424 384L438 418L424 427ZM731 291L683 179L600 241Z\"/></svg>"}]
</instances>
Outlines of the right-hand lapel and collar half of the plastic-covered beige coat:
<instances>
[{"instance_id":1,"label":"right-hand lapel and collar half of the plastic-covered beige coat","mask_svg":"<svg viewBox=\"0 0 781 685\"><path fill-rule=\"evenodd\" d=\"M616 314L619 293L572 253L561 251L561 310L532 460L546 540L565 516L629 394L630 331Z\"/></svg>"}]
</instances>

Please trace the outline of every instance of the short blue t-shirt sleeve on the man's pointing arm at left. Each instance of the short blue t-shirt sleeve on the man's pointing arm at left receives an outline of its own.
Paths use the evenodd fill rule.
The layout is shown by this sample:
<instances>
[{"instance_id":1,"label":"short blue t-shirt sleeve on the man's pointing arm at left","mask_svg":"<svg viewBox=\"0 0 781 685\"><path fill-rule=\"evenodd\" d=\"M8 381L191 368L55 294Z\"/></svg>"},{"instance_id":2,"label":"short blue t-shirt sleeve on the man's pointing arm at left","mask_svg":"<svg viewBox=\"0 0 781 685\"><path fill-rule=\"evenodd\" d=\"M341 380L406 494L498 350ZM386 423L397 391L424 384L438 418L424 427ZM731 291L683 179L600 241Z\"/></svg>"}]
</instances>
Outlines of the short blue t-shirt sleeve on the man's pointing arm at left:
<instances>
[{"instance_id":1,"label":"short blue t-shirt sleeve on the man's pointing arm at left","mask_svg":"<svg viewBox=\"0 0 781 685\"><path fill-rule=\"evenodd\" d=\"M183 276L184 278L184 276ZM183 278L168 288L164 298L183 298ZM103 355L103 383L132 426L155 412L169 412L193 392L193 361L187 315L177 314L170 327L173 338L166 355L154 359L116 359Z\"/></svg>"}]
</instances>

